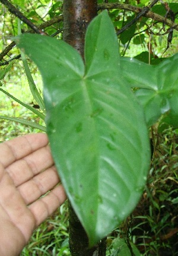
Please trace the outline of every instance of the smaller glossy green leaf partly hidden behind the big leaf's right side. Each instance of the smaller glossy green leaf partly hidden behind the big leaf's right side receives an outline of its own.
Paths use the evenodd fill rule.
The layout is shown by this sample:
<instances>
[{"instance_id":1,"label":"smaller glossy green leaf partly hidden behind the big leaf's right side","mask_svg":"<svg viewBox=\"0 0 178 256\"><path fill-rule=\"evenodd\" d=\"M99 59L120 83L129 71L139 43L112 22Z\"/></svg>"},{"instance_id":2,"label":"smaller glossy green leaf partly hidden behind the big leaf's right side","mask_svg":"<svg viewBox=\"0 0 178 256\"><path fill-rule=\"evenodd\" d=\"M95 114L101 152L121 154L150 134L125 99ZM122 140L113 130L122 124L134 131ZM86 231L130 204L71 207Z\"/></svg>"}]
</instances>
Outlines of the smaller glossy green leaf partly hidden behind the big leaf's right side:
<instances>
[{"instance_id":1,"label":"smaller glossy green leaf partly hidden behind the big leaf's right side","mask_svg":"<svg viewBox=\"0 0 178 256\"><path fill-rule=\"evenodd\" d=\"M133 58L120 58L123 76L136 90L139 102L144 106L148 126L162 114L163 121L178 127L178 54L158 65L148 65Z\"/></svg>"}]
</instances>

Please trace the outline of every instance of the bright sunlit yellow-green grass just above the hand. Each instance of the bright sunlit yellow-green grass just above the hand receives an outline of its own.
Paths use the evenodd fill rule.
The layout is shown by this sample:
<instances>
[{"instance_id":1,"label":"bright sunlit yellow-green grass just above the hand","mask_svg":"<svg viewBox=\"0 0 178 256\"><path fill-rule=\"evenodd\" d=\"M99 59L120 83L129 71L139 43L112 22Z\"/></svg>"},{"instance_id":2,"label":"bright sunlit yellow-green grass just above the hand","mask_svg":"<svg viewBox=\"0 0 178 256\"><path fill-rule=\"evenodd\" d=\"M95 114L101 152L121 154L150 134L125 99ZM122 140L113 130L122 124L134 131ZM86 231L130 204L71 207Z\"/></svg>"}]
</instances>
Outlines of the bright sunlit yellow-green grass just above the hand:
<instances>
[{"instance_id":1,"label":"bright sunlit yellow-green grass just above the hand","mask_svg":"<svg viewBox=\"0 0 178 256\"><path fill-rule=\"evenodd\" d=\"M15 65L15 70L8 73L2 80L1 88L15 96L15 98L20 99L24 103L33 107L36 102L33 100L30 89L28 87L26 75L23 72L23 66L21 64ZM20 70L18 71L17 70ZM37 71L36 67L32 66L34 75L33 79L37 83L37 87L41 91L42 89L42 79ZM37 124L45 125L44 121L41 120L36 114L32 113L27 108L21 106L18 102L11 99L5 93L0 91L0 115L5 115L7 117L24 118L24 120L34 121ZM39 129L34 129L29 126L24 126L23 124L7 121L0 119L0 141L7 141L8 139L15 138L20 135L25 135L27 133L40 132Z\"/></svg>"}]
</instances>

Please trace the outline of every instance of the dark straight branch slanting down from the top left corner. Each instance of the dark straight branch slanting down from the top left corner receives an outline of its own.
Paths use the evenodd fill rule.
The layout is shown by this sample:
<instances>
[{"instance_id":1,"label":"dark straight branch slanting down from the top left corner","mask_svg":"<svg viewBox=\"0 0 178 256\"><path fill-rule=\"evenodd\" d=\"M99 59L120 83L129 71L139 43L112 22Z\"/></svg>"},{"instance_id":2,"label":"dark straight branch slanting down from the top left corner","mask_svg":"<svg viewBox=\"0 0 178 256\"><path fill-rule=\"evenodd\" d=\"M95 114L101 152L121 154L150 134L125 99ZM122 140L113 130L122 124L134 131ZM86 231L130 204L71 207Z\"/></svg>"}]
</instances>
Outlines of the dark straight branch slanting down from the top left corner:
<instances>
[{"instance_id":1,"label":"dark straight branch slanting down from the top left corner","mask_svg":"<svg viewBox=\"0 0 178 256\"><path fill-rule=\"evenodd\" d=\"M17 10L17 8L14 7L8 0L0 0L2 4L5 5L5 7L9 10L10 13L15 14L16 17L20 18L21 21L26 23L28 27L34 30L34 32L46 35L42 30L40 30L36 25L34 25L28 18L26 18L20 11Z\"/></svg>"}]
</instances>

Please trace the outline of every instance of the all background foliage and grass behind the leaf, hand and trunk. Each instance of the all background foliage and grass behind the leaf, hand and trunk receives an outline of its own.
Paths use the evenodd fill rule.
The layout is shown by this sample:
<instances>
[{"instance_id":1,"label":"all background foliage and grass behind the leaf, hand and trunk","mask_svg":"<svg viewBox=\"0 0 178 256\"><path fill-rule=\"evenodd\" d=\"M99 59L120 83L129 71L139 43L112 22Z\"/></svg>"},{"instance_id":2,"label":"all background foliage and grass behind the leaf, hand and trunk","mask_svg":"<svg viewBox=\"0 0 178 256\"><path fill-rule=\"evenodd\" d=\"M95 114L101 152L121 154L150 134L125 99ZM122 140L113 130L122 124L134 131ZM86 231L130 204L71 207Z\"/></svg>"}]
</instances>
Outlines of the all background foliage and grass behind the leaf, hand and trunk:
<instances>
[{"instance_id":1,"label":"all background foliage and grass behind the leaf, hand and trunk","mask_svg":"<svg viewBox=\"0 0 178 256\"><path fill-rule=\"evenodd\" d=\"M11 1L21 13L37 26L44 22L55 19L62 15L62 1L40 0L40 1ZM103 4L104 1L98 1ZM116 3L119 1L108 1ZM125 4L134 7L144 7L148 1L126 1ZM177 1L169 1L169 7L174 11L174 22L177 23ZM163 2L158 2L152 8L157 14L166 15L167 10ZM0 4L0 54L9 43L12 37L18 34L18 21L10 14L4 5ZM127 10L110 10L110 17L119 32L126 23L135 17L135 14ZM169 14L167 18L171 20ZM49 35L62 39L62 19L44 28ZM26 24L21 23L21 28L27 31ZM157 64L163 58L172 56L177 51L177 31L173 32L173 39L167 49L167 37L169 29L164 23L158 23L151 18L141 17L137 23L130 27L129 31L118 35L120 54L122 56L135 57L145 63ZM161 35L166 33L166 35ZM12 48L5 55L2 63L12 60L20 52L16 47ZM37 67L28 60L33 80L41 93L42 82ZM2 67L4 68L4 67ZM2 69L1 69L2 70ZM169 74L168 74L169 76ZM33 108L39 110L37 102L31 95L28 87L26 74L23 71L23 64L15 60L11 70L2 77L1 88L11 93L16 98ZM21 104L0 92L1 115L8 117L21 117L37 124L44 125L42 118L32 113ZM41 111L41 110L40 110ZM42 111L41 111L42 112ZM29 126L17 124L8 120L0 120L0 140L4 141L14 138L17 135L28 132L39 132ZM177 129L166 127L163 133L158 133L158 124L150 130L154 146L153 158L150 167L147 187L144 194L127 221L107 238L107 255L125 255L125 246L131 243L136 245L142 255L177 255ZM43 223L36 230L30 243L24 249L22 255L69 255L68 250L68 223L66 205ZM126 246L126 249L128 246ZM137 252L135 252L135 255Z\"/></svg>"}]
</instances>

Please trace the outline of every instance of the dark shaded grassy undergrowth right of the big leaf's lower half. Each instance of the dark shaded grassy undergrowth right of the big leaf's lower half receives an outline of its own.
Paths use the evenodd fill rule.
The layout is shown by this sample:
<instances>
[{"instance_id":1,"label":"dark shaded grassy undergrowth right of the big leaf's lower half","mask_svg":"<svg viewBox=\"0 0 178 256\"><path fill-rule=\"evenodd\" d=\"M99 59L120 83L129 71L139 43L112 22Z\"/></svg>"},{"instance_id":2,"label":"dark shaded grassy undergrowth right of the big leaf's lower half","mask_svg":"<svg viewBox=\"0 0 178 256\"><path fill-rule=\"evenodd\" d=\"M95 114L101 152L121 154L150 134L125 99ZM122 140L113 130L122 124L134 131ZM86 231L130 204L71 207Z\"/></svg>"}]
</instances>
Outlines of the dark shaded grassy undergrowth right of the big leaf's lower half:
<instances>
[{"instance_id":1,"label":"dark shaded grassy undergrowth right of the big leaf's lower half","mask_svg":"<svg viewBox=\"0 0 178 256\"><path fill-rule=\"evenodd\" d=\"M132 213L131 225L120 226L120 236L129 228L129 238L142 255L175 256L178 245L177 132L169 127L160 134L155 126L153 133L155 149L147 187Z\"/></svg>"}]
</instances>

